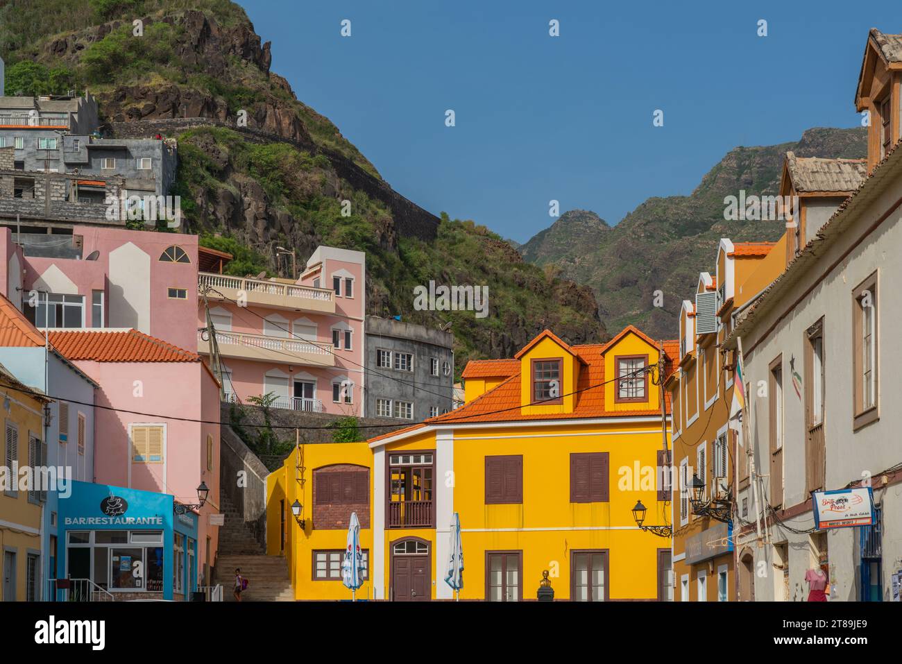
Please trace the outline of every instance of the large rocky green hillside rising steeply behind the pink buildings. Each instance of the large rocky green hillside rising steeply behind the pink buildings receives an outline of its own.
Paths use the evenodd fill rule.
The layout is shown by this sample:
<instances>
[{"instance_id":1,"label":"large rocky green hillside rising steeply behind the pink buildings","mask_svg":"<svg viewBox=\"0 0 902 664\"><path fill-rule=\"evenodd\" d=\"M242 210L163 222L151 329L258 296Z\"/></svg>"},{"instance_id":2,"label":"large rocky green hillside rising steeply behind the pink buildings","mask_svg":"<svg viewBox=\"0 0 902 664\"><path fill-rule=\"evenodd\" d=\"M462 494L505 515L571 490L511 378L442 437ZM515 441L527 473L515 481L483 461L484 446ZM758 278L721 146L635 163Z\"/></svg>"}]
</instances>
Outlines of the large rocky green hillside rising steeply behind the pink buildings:
<instances>
[{"instance_id":1,"label":"large rocky green hillside rising steeply behind the pink buildings","mask_svg":"<svg viewBox=\"0 0 902 664\"><path fill-rule=\"evenodd\" d=\"M176 138L187 230L235 254L235 273L284 275L277 245L301 259L318 244L366 251L369 312L451 321L458 372L470 357L511 356L543 327L573 343L606 337L590 289L394 192L271 71L270 44L235 3L0 0L0 55L7 94L87 90L106 134ZM414 310L414 287L430 280L488 286L490 315Z\"/></svg>"}]
</instances>

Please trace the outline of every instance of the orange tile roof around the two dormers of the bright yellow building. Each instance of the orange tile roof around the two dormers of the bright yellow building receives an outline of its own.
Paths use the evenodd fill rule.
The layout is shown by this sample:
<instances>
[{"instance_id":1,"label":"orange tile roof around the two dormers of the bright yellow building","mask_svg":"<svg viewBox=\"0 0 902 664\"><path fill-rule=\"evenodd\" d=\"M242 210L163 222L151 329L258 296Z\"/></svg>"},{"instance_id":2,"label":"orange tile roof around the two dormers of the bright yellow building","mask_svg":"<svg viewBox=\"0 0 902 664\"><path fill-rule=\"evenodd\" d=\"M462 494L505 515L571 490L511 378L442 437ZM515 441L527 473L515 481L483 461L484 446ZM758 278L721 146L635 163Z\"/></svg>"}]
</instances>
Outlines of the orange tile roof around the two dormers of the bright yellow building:
<instances>
[{"instance_id":1,"label":"orange tile roof around the two dormers of the bright yellow building","mask_svg":"<svg viewBox=\"0 0 902 664\"><path fill-rule=\"evenodd\" d=\"M649 344L658 347L658 342L642 333L636 327L624 328L616 337L606 344L584 344L580 346L566 346L585 366L579 373L575 389L575 408L571 412L539 413L524 415L520 408L520 371L505 379L501 384L485 392L480 397L466 403L457 410L451 410L444 415L425 420L424 423L415 424L407 429L391 431L390 433L370 438L369 442L377 442L384 438L392 438L400 434L422 429L428 425L441 425L453 423L477 423L477 422L514 422L535 420L576 420L580 418L602 417L635 417L655 416L660 414L658 404L651 409L637 410L609 410L604 403L604 351L611 347L617 340L628 333L634 333ZM539 337L545 337L543 332ZM534 346L536 339L529 343ZM679 342L668 339L664 343L664 352L669 360L666 364L666 373L673 371L673 361L678 354ZM528 346L528 347L529 347ZM521 351L522 353L522 351ZM496 360L496 362L510 362L510 360ZM518 363L519 364L519 363ZM669 395L666 395L667 412L670 411Z\"/></svg>"}]
</instances>

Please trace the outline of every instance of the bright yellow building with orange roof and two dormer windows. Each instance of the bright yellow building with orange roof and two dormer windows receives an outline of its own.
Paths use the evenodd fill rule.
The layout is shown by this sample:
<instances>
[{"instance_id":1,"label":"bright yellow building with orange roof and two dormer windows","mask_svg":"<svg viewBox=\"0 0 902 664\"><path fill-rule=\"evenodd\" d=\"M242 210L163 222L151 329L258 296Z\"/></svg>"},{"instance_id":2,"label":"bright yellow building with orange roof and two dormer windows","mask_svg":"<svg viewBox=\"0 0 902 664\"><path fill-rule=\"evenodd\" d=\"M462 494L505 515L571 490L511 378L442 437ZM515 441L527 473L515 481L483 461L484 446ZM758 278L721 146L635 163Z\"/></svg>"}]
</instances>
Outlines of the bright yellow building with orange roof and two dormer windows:
<instances>
[{"instance_id":1,"label":"bright yellow building with orange roof and two dormer windows","mask_svg":"<svg viewBox=\"0 0 902 664\"><path fill-rule=\"evenodd\" d=\"M667 372L676 343L665 352ZM535 599L546 569L556 599L667 599L670 538L632 512L641 501L645 525L671 522L658 357L634 327L584 346L546 330L511 360L469 364L457 410L367 443L304 446L270 475L268 552L289 558L298 599L349 598L340 564L356 512L358 597L451 599L458 512L462 600Z\"/></svg>"}]
</instances>

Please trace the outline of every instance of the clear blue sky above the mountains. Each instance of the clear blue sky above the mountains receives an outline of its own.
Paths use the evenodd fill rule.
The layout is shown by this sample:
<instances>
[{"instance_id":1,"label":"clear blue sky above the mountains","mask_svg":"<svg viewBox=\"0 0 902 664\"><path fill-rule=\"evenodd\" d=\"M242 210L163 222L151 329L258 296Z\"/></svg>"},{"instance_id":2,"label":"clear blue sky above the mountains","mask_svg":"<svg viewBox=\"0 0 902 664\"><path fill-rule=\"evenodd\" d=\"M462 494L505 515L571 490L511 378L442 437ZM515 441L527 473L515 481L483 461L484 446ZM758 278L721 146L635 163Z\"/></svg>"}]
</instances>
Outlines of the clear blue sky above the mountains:
<instances>
[{"instance_id":1,"label":"clear blue sky above the mountains","mask_svg":"<svg viewBox=\"0 0 902 664\"><path fill-rule=\"evenodd\" d=\"M902 32L900 5L848 0L239 2L272 70L394 189L520 242L551 199L615 224L736 145L860 125L867 32Z\"/></svg>"}]
</instances>

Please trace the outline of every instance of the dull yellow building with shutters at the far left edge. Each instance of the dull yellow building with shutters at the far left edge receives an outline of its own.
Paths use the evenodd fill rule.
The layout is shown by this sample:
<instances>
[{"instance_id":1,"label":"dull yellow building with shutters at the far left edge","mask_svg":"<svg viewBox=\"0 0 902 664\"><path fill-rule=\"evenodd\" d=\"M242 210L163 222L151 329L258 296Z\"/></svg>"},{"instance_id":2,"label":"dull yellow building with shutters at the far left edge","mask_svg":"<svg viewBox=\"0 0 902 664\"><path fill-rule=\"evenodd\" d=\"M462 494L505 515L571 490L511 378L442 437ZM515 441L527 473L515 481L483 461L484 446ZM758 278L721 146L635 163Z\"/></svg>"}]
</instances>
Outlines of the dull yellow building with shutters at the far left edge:
<instances>
[{"instance_id":1,"label":"dull yellow building with shutters at the far left edge","mask_svg":"<svg viewBox=\"0 0 902 664\"><path fill-rule=\"evenodd\" d=\"M0 438L0 555L3 577L0 602L41 599L40 486L20 484L23 466L42 466L42 410L48 402L39 392L19 383L0 364L0 399L4 435Z\"/></svg>"}]
</instances>

